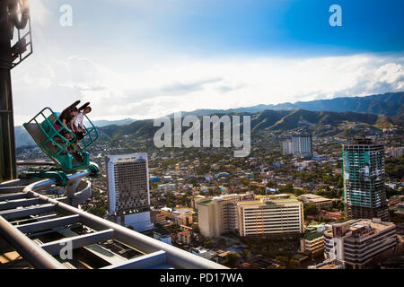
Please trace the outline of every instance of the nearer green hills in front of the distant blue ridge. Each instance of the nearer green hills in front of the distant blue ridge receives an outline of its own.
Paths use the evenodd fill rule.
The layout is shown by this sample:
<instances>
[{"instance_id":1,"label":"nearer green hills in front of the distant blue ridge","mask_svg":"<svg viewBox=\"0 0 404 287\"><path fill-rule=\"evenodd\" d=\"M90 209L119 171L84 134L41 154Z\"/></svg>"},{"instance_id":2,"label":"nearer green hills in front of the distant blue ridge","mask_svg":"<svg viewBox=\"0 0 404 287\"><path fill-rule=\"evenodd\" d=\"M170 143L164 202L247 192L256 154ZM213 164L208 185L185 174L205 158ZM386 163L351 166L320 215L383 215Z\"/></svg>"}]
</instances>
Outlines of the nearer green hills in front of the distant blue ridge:
<instances>
[{"instance_id":1,"label":"nearer green hills in front of the distant blue ridge","mask_svg":"<svg viewBox=\"0 0 404 287\"><path fill-rule=\"evenodd\" d=\"M317 136L351 136L364 129L378 132L382 128L404 128L404 119L356 112L266 109L258 113L238 112L227 114L230 116L250 116L252 135L259 131L284 133L303 129ZM219 117L223 115L217 114ZM145 119L137 120L127 126L104 126L100 128L100 132L108 140L119 138L148 140L153 139L154 133L159 128L154 126L153 119ZM183 131L186 129L188 127L183 127Z\"/></svg>"}]
</instances>

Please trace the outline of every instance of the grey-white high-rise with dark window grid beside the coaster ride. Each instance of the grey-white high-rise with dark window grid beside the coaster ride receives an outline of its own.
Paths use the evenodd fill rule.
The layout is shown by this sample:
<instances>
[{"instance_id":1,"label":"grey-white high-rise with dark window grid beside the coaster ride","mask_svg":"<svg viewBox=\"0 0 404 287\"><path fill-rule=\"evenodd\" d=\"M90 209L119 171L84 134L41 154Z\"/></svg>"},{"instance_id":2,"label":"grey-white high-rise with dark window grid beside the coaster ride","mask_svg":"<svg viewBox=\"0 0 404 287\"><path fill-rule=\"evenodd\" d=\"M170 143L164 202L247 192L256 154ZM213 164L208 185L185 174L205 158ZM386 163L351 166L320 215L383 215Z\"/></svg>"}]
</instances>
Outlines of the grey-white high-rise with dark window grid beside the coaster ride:
<instances>
[{"instance_id":1,"label":"grey-white high-rise with dark window grid beside the coaster ride","mask_svg":"<svg viewBox=\"0 0 404 287\"><path fill-rule=\"evenodd\" d=\"M153 228L147 153L107 157L110 219L136 231Z\"/></svg>"}]
</instances>

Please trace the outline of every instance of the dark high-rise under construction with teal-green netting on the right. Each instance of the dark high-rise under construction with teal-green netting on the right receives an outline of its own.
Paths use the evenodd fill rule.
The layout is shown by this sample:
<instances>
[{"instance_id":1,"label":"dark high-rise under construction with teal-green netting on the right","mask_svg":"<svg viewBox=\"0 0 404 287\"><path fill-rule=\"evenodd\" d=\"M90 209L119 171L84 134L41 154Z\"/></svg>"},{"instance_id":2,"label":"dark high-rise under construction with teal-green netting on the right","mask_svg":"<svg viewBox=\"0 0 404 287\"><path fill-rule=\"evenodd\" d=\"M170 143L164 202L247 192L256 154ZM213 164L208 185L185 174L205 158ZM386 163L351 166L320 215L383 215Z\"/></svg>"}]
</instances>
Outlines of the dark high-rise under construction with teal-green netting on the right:
<instances>
[{"instance_id":1,"label":"dark high-rise under construction with teal-green netting on the right","mask_svg":"<svg viewBox=\"0 0 404 287\"><path fill-rule=\"evenodd\" d=\"M343 145L347 219L389 221L384 190L384 147L367 138Z\"/></svg>"}]
</instances>

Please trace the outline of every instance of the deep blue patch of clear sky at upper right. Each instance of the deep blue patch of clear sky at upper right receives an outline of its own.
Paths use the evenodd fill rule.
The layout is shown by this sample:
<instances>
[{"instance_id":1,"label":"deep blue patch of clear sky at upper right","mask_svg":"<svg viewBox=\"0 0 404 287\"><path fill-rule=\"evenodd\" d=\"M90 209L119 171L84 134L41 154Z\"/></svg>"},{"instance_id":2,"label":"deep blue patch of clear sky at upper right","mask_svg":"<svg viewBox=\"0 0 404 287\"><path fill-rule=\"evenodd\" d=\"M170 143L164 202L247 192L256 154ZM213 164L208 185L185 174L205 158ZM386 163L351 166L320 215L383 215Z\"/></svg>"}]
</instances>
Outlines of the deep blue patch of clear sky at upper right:
<instances>
[{"instance_id":1,"label":"deep blue patch of clear sky at upper right","mask_svg":"<svg viewBox=\"0 0 404 287\"><path fill-rule=\"evenodd\" d=\"M331 4L342 7L342 27L329 25ZM307 57L404 47L402 1L205 1L189 9L198 12L167 22L166 31L173 31L167 40L173 35L175 44L190 42L207 53L298 52Z\"/></svg>"}]
</instances>

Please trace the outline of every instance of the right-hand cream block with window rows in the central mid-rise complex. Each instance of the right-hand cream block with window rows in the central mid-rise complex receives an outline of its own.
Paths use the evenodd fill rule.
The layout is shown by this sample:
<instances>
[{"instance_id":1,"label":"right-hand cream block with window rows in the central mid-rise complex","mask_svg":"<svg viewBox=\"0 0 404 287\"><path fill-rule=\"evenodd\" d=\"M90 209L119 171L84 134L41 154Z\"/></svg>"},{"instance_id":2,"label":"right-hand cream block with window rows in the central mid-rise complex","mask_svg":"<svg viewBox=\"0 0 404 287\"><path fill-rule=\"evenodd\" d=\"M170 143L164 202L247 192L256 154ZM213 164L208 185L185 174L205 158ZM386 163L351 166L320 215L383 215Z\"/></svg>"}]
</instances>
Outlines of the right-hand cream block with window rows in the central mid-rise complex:
<instances>
[{"instance_id":1,"label":"right-hand cream block with window rows in the central mid-rise complex","mask_svg":"<svg viewBox=\"0 0 404 287\"><path fill-rule=\"evenodd\" d=\"M303 233L303 203L293 195L237 203L240 236Z\"/></svg>"}]
</instances>

